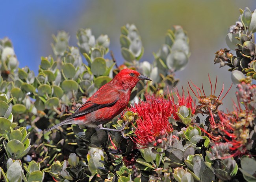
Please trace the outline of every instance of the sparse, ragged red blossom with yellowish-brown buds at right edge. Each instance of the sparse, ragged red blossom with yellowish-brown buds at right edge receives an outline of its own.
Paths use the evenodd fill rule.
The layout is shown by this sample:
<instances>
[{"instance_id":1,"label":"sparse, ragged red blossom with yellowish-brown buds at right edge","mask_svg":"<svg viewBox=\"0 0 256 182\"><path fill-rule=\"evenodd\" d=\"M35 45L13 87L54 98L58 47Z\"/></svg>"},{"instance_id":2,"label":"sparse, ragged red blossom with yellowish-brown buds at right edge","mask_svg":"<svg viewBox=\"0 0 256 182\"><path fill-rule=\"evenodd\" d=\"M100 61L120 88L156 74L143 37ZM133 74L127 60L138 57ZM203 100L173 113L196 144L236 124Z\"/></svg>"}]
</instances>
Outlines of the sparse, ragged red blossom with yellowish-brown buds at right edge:
<instances>
[{"instance_id":1,"label":"sparse, ragged red blossom with yellowish-brown buds at right edge","mask_svg":"<svg viewBox=\"0 0 256 182\"><path fill-rule=\"evenodd\" d=\"M220 142L232 144L230 151L232 151L233 157L247 153L249 140L247 126L249 126L250 118L254 119L252 111L243 111L237 106L235 108L236 110L228 114L218 111L218 119L214 118L211 113L210 133L201 128L216 144Z\"/></svg>"}]
</instances>

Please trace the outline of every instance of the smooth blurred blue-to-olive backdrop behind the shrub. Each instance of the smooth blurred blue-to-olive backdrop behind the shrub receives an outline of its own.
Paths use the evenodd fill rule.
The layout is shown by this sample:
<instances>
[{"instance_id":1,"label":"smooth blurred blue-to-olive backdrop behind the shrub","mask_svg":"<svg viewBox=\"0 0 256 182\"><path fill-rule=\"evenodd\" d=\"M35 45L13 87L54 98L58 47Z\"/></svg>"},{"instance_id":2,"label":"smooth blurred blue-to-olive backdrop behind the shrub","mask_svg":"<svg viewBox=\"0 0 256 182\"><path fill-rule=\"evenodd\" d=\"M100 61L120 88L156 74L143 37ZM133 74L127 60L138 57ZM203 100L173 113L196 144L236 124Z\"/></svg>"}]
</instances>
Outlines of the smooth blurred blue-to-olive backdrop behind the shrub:
<instances>
[{"instance_id":1,"label":"smooth blurred blue-to-olive backdrop behind the shrub","mask_svg":"<svg viewBox=\"0 0 256 182\"><path fill-rule=\"evenodd\" d=\"M69 32L70 45L76 46L76 31L91 28L93 35L107 34L110 50L117 64L124 62L119 44L120 28L134 23L142 37L145 53L141 61L152 62L152 52L165 42L165 33L173 25L182 25L190 39L191 56L186 68L176 72L178 89L192 80L197 86L204 84L210 94L208 73L212 80L218 75L217 95L224 83L224 91L231 85L228 67L219 69L213 64L215 52L227 47L225 37L228 27L240 15L239 8L256 9L255 0L26 0L1 1L0 38L9 37L20 62L38 73L41 56L52 54L52 34L58 30ZM110 58L108 53L107 58ZM213 81L214 82L214 81ZM224 98L226 107L232 108L236 88Z\"/></svg>"}]
</instances>

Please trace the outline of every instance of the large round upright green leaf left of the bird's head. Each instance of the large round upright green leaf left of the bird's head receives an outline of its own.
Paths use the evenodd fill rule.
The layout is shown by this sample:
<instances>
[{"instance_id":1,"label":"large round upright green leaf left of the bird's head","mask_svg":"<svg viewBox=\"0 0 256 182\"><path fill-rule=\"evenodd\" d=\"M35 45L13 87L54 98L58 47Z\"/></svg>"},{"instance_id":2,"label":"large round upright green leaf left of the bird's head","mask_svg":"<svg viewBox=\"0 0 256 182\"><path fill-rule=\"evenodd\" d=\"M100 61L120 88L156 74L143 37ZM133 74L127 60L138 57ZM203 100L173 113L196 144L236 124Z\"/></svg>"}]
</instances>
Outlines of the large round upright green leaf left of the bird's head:
<instances>
[{"instance_id":1,"label":"large round upright green leaf left of the bird's head","mask_svg":"<svg viewBox=\"0 0 256 182\"><path fill-rule=\"evenodd\" d=\"M95 58L91 64L91 72L93 75L100 76L103 75L107 70L106 61L104 58Z\"/></svg>"}]
</instances>

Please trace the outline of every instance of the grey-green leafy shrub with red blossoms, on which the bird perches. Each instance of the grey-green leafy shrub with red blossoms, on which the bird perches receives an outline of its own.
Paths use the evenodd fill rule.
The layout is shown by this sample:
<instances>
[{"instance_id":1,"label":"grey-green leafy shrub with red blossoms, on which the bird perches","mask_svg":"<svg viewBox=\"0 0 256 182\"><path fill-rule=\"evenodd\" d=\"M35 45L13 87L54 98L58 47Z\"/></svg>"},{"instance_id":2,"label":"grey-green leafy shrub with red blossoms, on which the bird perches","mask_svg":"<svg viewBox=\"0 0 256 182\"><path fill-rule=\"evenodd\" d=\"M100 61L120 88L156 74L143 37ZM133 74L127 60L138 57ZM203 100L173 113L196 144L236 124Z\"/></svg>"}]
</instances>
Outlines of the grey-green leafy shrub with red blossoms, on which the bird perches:
<instances>
[{"instance_id":1,"label":"grey-green leafy shrub with red blossoms, on which the bird perches","mask_svg":"<svg viewBox=\"0 0 256 182\"><path fill-rule=\"evenodd\" d=\"M189 38L180 26L167 31L154 62L144 53L133 24L121 27L117 66L106 59L110 40L90 29L53 36L53 56L42 57L39 73L19 62L8 38L0 40L0 179L8 181L256 181L256 12L240 9L230 27L230 49L217 51L215 63L230 66L237 85L234 111L221 111L224 89L215 95L189 83L187 94L174 87L175 71L189 58ZM83 63L84 56L87 63ZM121 132L63 126L44 133L79 107L123 68L136 69L153 82L140 81L130 105L106 127ZM215 82L215 87L217 79ZM193 93L190 94L190 93ZM186 96L187 95L187 96ZM194 97L194 98L193 98ZM196 98L196 99L195 99ZM135 103L134 103L135 101ZM206 115L206 120L200 119Z\"/></svg>"}]
</instances>

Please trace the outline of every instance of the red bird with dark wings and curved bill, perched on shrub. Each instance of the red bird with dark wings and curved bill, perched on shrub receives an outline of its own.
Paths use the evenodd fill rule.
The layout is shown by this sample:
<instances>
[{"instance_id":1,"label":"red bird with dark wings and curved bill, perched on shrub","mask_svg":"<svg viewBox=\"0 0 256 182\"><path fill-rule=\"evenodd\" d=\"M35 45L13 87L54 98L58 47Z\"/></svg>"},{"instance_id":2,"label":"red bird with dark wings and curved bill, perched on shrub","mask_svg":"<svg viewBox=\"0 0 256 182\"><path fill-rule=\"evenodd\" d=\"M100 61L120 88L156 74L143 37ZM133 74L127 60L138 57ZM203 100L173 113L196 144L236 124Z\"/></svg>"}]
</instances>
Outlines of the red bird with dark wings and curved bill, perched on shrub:
<instances>
[{"instance_id":1,"label":"red bird with dark wings and curved bill, perched on shrub","mask_svg":"<svg viewBox=\"0 0 256 182\"><path fill-rule=\"evenodd\" d=\"M76 112L63 122L45 130L51 131L64 124L97 127L119 115L127 106L132 89L139 80L150 80L132 69L121 70L110 82L100 87Z\"/></svg>"}]
</instances>

